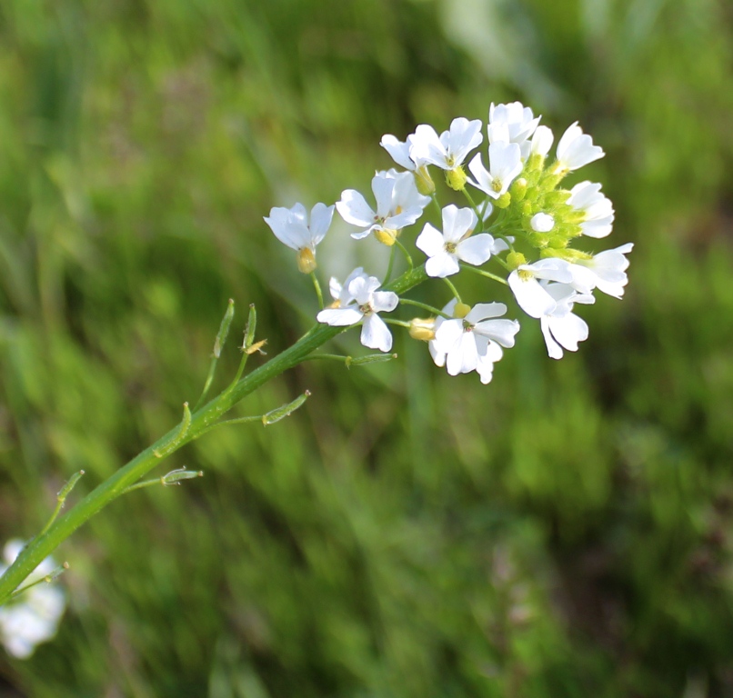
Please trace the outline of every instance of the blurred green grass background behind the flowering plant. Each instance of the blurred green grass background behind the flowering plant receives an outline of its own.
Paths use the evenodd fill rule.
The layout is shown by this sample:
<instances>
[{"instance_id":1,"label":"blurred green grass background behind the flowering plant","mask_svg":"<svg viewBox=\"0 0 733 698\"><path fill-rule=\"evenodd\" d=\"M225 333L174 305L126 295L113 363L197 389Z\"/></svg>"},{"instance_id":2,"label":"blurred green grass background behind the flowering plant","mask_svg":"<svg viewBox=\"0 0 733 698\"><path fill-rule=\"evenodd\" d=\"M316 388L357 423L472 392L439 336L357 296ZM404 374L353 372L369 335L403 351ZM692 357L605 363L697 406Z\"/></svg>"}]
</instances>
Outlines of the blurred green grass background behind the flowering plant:
<instances>
[{"instance_id":1,"label":"blurred green grass background behind the flowering plant","mask_svg":"<svg viewBox=\"0 0 733 698\"><path fill-rule=\"evenodd\" d=\"M0 40L2 540L175 424L227 298L296 339L262 216L364 189L384 133L515 98L579 119L607 242L636 243L562 362L526 323L489 386L404 338L268 385L241 414L314 394L65 543L71 608L0 694L733 693L728 4L7 0Z\"/></svg>"}]
</instances>

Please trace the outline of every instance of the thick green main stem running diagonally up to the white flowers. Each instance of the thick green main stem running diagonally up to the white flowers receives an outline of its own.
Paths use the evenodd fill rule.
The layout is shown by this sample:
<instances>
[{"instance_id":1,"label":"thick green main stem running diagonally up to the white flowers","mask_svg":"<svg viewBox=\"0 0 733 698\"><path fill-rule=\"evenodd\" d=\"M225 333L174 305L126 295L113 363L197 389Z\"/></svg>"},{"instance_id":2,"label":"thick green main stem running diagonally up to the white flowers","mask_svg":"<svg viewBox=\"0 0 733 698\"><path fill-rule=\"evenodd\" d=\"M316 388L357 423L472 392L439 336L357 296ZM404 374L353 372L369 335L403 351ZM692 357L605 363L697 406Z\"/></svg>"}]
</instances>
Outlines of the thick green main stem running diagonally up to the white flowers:
<instances>
[{"instance_id":1,"label":"thick green main stem running diagonally up to the white flowers","mask_svg":"<svg viewBox=\"0 0 733 698\"><path fill-rule=\"evenodd\" d=\"M397 295L404 294L411 288L421 284L427 279L425 267L420 266L411 269L399 276L391 284L385 286L385 290L393 291ZM277 354L266 364L260 366L251 374L247 374L224 393L217 395L209 403L192 415L191 425L188 428L186 438L176 444L176 449L183 444L196 438L202 430L210 424L214 424L222 414L228 412L235 404L244 399L248 394L277 375L284 373L287 369L300 364L308 354L315 351L322 344L326 344L336 334L345 332L347 327L331 327L327 324L316 324L304 334L296 344ZM156 456L155 451L160 451L170 444L176 437L178 425L171 429L146 448L141 454L136 455L124 467L120 468L114 475L107 478L104 483L99 484L87 494L81 502L75 505L68 514L57 519L45 533L37 535L24 550L18 555L13 563L0 577L0 605L5 603L15 589L25 581L47 555L65 541L79 526L94 516L100 509L110 504L120 494L123 494L127 487L135 484L141 477L149 473L159 464L163 458ZM170 452L173 453L173 450ZM169 455L166 453L166 456Z\"/></svg>"}]
</instances>

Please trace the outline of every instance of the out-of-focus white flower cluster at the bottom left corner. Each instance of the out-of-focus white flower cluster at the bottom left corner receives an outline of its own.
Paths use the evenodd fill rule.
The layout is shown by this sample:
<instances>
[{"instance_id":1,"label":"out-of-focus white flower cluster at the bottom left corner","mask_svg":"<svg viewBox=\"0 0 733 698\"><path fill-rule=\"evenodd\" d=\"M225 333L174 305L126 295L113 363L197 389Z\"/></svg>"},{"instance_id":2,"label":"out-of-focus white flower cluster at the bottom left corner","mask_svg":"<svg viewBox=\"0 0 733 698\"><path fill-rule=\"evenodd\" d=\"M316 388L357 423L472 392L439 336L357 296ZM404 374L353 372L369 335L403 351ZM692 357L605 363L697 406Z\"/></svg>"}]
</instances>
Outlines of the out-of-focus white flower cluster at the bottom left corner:
<instances>
[{"instance_id":1,"label":"out-of-focus white flower cluster at the bottom left corner","mask_svg":"<svg viewBox=\"0 0 733 698\"><path fill-rule=\"evenodd\" d=\"M5 544L0 574L23 550L23 543L12 540ZM46 557L26 583L54 572L53 558ZM65 593L55 584L40 582L22 593L16 601L0 606L0 642L8 653L18 659L27 659L35 651L35 645L45 643L54 637L58 622L66 606Z\"/></svg>"}]
</instances>

